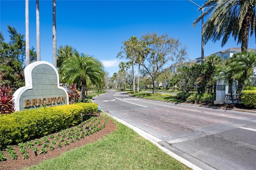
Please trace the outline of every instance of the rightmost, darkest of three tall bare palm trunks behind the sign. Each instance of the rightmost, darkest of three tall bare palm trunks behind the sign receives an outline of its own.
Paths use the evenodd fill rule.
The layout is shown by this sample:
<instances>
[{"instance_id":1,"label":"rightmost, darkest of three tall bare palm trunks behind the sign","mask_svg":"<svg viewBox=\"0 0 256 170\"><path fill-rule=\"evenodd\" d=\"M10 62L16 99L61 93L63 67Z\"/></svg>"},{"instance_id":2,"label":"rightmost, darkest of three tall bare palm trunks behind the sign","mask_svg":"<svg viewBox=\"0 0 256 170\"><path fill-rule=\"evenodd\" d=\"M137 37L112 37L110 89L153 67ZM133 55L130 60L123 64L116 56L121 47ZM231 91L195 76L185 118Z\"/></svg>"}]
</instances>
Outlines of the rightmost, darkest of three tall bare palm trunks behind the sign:
<instances>
[{"instance_id":1,"label":"rightmost, darkest of three tall bare palm trunks behind the sign","mask_svg":"<svg viewBox=\"0 0 256 170\"><path fill-rule=\"evenodd\" d=\"M52 45L53 45L53 66L57 67L56 0L52 0Z\"/></svg>"}]
</instances>

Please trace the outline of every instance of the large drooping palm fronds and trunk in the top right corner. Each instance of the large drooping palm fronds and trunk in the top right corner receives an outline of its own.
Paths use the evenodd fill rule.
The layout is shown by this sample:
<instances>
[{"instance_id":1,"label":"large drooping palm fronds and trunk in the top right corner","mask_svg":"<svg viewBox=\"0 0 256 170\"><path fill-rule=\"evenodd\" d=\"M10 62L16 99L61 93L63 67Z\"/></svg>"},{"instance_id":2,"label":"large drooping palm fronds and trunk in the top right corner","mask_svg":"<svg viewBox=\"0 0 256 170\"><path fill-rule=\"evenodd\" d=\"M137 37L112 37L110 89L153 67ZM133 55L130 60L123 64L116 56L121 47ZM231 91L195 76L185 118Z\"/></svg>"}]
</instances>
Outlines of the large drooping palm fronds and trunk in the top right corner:
<instances>
[{"instance_id":1,"label":"large drooping palm fronds and trunk in the top right corner","mask_svg":"<svg viewBox=\"0 0 256 170\"><path fill-rule=\"evenodd\" d=\"M248 49L249 32L252 36L256 30L255 4L256 0L208 0L200 9L209 9L194 21L193 26L210 14L202 33L205 43L222 38L221 45L224 46L233 36L245 51Z\"/></svg>"}]
</instances>

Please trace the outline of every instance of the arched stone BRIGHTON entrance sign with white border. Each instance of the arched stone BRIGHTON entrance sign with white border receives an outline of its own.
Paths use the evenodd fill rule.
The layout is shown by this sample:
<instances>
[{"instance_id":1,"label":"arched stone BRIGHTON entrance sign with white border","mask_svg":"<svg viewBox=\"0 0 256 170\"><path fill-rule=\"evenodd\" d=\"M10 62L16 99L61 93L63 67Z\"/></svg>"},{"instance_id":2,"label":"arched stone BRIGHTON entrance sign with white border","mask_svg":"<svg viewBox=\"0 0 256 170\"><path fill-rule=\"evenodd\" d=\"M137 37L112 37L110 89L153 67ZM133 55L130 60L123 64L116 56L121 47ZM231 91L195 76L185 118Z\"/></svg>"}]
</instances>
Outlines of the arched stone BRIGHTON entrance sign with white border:
<instances>
[{"instance_id":1,"label":"arched stone BRIGHTON entrance sign with white border","mask_svg":"<svg viewBox=\"0 0 256 170\"><path fill-rule=\"evenodd\" d=\"M26 85L14 93L16 111L68 104L68 93L60 86L58 71L52 64L33 62L24 74Z\"/></svg>"}]
</instances>

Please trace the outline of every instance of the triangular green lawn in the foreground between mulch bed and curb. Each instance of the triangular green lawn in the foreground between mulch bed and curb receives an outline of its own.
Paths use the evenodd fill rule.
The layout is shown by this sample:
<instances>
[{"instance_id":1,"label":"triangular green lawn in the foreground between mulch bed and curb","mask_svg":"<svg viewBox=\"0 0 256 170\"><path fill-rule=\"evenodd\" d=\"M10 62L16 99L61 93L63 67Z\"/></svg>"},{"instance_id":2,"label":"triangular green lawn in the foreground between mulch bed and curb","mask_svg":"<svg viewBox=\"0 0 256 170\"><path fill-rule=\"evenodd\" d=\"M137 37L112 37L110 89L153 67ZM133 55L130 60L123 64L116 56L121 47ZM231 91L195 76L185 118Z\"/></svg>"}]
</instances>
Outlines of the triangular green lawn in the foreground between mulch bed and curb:
<instances>
[{"instance_id":1,"label":"triangular green lawn in the foreground between mulch bed and curb","mask_svg":"<svg viewBox=\"0 0 256 170\"><path fill-rule=\"evenodd\" d=\"M26 170L191 170L134 130L113 121L117 129L97 142Z\"/></svg>"}]
</instances>

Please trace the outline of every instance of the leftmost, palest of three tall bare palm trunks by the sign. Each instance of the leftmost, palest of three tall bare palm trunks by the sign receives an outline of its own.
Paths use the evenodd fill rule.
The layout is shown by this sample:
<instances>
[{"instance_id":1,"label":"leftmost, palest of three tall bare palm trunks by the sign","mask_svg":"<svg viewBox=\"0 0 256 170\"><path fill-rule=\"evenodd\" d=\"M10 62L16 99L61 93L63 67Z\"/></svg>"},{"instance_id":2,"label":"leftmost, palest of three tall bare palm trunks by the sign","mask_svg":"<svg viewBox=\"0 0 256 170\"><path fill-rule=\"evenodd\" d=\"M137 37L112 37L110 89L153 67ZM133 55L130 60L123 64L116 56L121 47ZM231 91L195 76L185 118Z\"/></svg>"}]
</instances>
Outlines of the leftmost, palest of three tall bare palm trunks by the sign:
<instances>
[{"instance_id":1,"label":"leftmost, palest of three tall bare palm trunks by the sign","mask_svg":"<svg viewBox=\"0 0 256 170\"><path fill-rule=\"evenodd\" d=\"M26 47L25 47L25 66L28 66L29 64L29 58L30 58L30 50L29 50L29 0L25 1L26 3L26 10L25 10L25 18L26 18Z\"/></svg>"}]
</instances>

